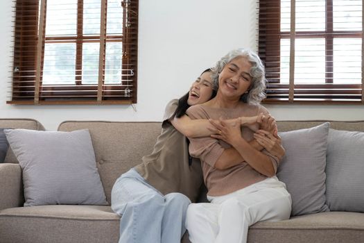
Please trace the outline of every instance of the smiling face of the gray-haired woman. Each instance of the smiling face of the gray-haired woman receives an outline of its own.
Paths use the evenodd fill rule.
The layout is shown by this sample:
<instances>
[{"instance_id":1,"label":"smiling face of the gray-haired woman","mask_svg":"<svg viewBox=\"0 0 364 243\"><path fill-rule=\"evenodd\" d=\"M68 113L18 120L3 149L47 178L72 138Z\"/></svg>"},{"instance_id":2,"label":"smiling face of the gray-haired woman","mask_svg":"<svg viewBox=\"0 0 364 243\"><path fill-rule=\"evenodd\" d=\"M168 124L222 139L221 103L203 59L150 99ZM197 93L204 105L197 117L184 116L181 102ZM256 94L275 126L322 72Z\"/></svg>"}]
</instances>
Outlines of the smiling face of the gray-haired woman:
<instances>
[{"instance_id":1,"label":"smiling face of the gray-haired woman","mask_svg":"<svg viewBox=\"0 0 364 243\"><path fill-rule=\"evenodd\" d=\"M224 97L240 99L252 84L251 67L245 57L237 57L228 62L218 77L218 92Z\"/></svg>"}]
</instances>

